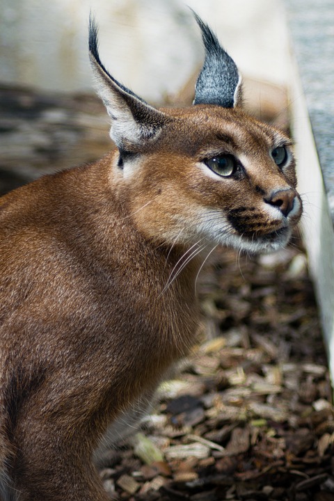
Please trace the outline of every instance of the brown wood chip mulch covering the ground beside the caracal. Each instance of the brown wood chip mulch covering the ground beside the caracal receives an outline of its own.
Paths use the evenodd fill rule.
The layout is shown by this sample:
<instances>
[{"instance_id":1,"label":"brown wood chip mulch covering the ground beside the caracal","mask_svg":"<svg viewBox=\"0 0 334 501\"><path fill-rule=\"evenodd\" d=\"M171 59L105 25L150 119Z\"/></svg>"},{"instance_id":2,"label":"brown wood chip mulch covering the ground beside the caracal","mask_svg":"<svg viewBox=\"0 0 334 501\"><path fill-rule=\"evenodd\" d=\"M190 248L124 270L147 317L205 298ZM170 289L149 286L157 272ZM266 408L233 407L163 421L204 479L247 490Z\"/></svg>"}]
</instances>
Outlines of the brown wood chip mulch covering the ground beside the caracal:
<instances>
[{"instance_id":1,"label":"brown wood chip mulch covering the ground beside the caracal","mask_svg":"<svg viewBox=\"0 0 334 501\"><path fill-rule=\"evenodd\" d=\"M203 339L145 429L104 458L113 500L334 501L334 408L305 255L221 250Z\"/></svg>"}]
</instances>

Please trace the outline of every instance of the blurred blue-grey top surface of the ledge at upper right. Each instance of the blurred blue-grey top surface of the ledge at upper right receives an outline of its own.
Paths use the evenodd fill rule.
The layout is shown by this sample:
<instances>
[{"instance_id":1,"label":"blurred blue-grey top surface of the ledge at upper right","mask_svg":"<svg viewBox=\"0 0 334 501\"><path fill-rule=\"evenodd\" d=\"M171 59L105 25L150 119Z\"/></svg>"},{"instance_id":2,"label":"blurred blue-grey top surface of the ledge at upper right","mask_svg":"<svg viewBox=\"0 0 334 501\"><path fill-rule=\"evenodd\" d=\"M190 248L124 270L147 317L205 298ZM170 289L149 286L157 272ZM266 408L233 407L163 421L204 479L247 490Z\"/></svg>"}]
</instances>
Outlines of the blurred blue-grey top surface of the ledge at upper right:
<instances>
[{"instance_id":1,"label":"blurred blue-grey top surface of the ledge at upper right","mask_svg":"<svg viewBox=\"0 0 334 501\"><path fill-rule=\"evenodd\" d=\"M334 1L285 0L334 223Z\"/></svg>"}]
</instances>

